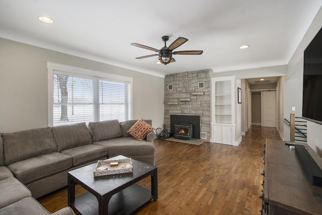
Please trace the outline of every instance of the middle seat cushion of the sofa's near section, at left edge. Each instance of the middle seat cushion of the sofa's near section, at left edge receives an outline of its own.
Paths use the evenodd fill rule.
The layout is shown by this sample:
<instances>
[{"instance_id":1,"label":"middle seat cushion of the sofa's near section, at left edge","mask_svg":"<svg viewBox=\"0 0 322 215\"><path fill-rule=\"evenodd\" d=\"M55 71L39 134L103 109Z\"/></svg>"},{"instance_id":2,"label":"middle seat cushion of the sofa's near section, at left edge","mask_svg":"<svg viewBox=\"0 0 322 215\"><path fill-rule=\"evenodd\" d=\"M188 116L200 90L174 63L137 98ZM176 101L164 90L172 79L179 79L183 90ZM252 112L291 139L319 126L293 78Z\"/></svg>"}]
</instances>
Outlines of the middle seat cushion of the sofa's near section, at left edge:
<instances>
[{"instance_id":1,"label":"middle seat cushion of the sofa's near section, at left edge","mask_svg":"<svg viewBox=\"0 0 322 215\"><path fill-rule=\"evenodd\" d=\"M0 208L6 207L16 201L31 196L31 192L27 189L27 187L25 187L25 185L19 182L15 177L9 177L0 181L0 190Z\"/></svg>"}]
</instances>

